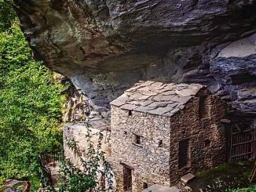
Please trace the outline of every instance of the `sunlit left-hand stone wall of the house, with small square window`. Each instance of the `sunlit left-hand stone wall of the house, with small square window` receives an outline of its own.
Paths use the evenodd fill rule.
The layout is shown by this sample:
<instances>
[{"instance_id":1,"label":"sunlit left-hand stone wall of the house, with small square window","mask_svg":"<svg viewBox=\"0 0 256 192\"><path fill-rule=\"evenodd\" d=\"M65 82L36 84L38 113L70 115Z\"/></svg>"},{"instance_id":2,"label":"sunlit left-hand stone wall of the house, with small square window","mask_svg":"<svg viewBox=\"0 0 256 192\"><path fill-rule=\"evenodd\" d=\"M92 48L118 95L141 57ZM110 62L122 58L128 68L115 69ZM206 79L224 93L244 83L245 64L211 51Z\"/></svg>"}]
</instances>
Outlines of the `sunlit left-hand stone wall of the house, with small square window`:
<instances>
[{"instance_id":1,"label":"sunlit left-hand stone wall of the house, with small square window","mask_svg":"<svg viewBox=\"0 0 256 192\"><path fill-rule=\"evenodd\" d=\"M126 134L126 133L127 134ZM134 144L134 134L143 136ZM158 147L159 140L163 147ZM123 191L123 165L133 168L133 192L141 192L143 183L169 186L170 118L133 112L112 106L112 165L117 191Z\"/></svg>"}]
</instances>

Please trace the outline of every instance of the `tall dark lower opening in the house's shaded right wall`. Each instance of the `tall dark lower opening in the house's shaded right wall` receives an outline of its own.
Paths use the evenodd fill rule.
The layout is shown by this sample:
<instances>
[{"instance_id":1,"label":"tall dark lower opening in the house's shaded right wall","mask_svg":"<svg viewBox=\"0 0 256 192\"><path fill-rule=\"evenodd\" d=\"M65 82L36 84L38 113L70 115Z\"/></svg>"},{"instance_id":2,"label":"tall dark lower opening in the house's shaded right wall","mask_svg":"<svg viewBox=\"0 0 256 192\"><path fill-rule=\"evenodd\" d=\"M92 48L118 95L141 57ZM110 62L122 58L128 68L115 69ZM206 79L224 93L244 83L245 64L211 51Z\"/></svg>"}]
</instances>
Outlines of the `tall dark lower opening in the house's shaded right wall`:
<instances>
[{"instance_id":1,"label":"tall dark lower opening in the house's shaded right wall","mask_svg":"<svg viewBox=\"0 0 256 192\"><path fill-rule=\"evenodd\" d=\"M184 168L190 165L189 139L185 139L179 142L178 157L178 168Z\"/></svg>"}]
</instances>

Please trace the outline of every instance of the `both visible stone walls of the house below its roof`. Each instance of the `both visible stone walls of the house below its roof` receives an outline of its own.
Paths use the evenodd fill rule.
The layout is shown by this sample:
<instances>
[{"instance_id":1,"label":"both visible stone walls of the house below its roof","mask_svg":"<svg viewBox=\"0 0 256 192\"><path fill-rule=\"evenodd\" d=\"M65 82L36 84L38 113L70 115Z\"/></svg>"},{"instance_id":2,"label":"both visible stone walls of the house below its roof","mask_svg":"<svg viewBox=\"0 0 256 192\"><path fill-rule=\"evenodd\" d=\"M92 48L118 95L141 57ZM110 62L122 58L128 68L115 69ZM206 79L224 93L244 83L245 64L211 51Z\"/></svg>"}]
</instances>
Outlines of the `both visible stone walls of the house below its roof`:
<instances>
[{"instance_id":1,"label":"both visible stone walls of the house below its roof","mask_svg":"<svg viewBox=\"0 0 256 192\"><path fill-rule=\"evenodd\" d=\"M112 106L112 165L118 191L123 191L123 165L132 169L133 192L139 192L144 183L170 186L188 172L226 161L225 129L220 121L225 103L207 96L207 117L200 119L199 96L206 94L210 94L206 89L200 91L172 117L134 111L129 115L129 110ZM141 136L140 145L135 136ZM178 148L184 139L189 139L190 162L179 169Z\"/></svg>"}]
</instances>

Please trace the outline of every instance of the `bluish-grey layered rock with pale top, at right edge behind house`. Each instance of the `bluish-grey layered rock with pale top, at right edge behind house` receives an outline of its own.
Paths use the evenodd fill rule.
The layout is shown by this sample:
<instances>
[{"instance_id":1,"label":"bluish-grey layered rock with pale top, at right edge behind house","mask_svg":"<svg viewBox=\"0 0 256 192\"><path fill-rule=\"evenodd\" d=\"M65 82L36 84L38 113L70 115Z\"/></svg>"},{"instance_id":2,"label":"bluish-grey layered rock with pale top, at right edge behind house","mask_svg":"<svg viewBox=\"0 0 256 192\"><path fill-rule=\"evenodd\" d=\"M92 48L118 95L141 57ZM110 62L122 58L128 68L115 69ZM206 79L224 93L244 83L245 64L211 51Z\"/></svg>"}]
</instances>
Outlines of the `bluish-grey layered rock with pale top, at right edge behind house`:
<instances>
[{"instance_id":1,"label":"bluish-grey layered rock with pale top, at right edge behind house","mask_svg":"<svg viewBox=\"0 0 256 192\"><path fill-rule=\"evenodd\" d=\"M245 113L256 109L256 34L225 46L210 61L218 95Z\"/></svg>"}]
</instances>

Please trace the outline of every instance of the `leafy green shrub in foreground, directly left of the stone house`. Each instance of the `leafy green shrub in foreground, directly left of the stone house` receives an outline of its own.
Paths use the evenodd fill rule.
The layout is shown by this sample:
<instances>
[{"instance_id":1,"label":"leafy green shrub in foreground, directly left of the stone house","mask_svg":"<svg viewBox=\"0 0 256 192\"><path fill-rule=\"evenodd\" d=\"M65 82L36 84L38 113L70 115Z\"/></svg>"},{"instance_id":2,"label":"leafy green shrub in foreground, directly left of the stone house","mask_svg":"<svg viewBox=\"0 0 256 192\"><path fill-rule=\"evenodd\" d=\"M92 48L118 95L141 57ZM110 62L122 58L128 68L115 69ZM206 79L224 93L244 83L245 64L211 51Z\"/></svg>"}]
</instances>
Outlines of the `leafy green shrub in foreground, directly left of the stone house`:
<instances>
[{"instance_id":1,"label":"leafy green shrub in foreground, directly left of the stone house","mask_svg":"<svg viewBox=\"0 0 256 192\"><path fill-rule=\"evenodd\" d=\"M69 159L65 159L61 163L60 180L62 184L60 184L58 190L51 187L49 180L42 175L42 183L46 187L46 191L86 192L113 190L112 168L104 157L104 151L101 150L102 132L98 132L97 136L97 143L93 143L93 136L90 129L87 128L86 151L79 150L79 146L74 139L65 139L70 150L78 157L80 165L74 165Z\"/></svg>"}]
</instances>

